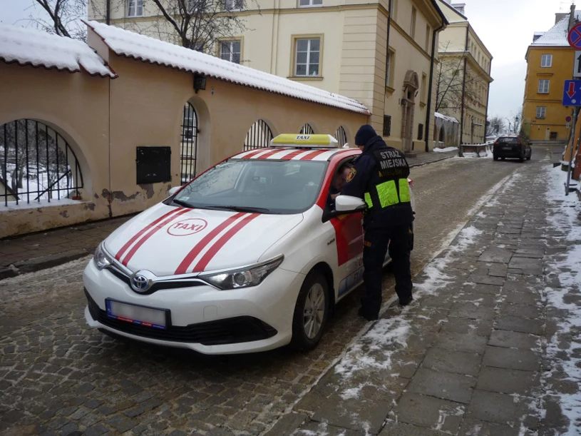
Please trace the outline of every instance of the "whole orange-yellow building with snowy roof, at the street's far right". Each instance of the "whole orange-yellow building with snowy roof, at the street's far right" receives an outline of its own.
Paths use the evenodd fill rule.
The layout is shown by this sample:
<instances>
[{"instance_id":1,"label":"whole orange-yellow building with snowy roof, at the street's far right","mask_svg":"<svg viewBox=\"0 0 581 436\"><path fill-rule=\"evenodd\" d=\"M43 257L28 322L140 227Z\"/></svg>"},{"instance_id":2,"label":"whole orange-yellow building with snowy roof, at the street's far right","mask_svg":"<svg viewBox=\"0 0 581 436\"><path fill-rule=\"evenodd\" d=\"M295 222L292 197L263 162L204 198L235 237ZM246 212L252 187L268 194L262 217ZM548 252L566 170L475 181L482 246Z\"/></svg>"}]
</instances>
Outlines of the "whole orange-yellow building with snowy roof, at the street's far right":
<instances>
[{"instance_id":1,"label":"whole orange-yellow building with snowy roof, at the street's far right","mask_svg":"<svg viewBox=\"0 0 581 436\"><path fill-rule=\"evenodd\" d=\"M581 11L575 16L581 19ZM562 106L565 80L572 78L575 49L567 42L570 14L556 14L547 32L535 33L528 48L523 130L531 141L567 141L572 108Z\"/></svg>"}]
</instances>

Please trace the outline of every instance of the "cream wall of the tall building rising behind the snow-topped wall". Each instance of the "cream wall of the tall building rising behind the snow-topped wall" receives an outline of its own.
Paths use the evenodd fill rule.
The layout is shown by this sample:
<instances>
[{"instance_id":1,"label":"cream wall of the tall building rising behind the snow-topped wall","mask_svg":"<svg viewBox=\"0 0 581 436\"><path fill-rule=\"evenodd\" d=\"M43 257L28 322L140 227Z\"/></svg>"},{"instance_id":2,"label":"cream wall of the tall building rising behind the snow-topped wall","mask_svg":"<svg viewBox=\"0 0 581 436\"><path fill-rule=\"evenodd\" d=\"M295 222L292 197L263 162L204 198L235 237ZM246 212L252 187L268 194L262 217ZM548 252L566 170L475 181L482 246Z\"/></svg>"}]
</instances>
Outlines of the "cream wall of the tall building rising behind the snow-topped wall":
<instances>
[{"instance_id":1,"label":"cream wall of the tall building rising behind the snow-topped wall","mask_svg":"<svg viewBox=\"0 0 581 436\"><path fill-rule=\"evenodd\" d=\"M115 3L115 0L112 0ZM92 0L103 11L104 0ZM149 2L150 3L150 2ZM247 31L235 36L242 41L242 64L277 76L307 83L334 93L341 93L364 103L372 113L371 125L382 133L384 113L392 117L391 136L386 141L402 148L400 99L403 78L408 71L418 74L420 86L426 74L426 88L431 61L431 38L441 21L426 0L395 0L394 25L389 47L394 51L395 64L392 86L386 87L386 53L388 33L388 0L369 3L366 0L324 0L321 7L299 7L298 0L261 0L250 3L250 10L238 14L245 20ZM416 9L416 34L412 39L411 11ZM90 11L93 9L90 7ZM160 39L172 39L165 31L155 36L152 28L163 21L153 4L139 19L125 18L125 9L118 8L112 24ZM103 21L103 14L92 14ZM428 26L428 28L426 28ZM426 39L426 34L428 38ZM320 77L294 77L294 38L322 38ZM212 49L218 54L218 48ZM423 99L420 102L420 98ZM422 104L420 104L422 103ZM413 138L414 151L423 151L425 139L418 140L418 125L426 128L427 90L416 98ZM433 118L433 108L431 109Z\"/></svg>"}]
</instances>

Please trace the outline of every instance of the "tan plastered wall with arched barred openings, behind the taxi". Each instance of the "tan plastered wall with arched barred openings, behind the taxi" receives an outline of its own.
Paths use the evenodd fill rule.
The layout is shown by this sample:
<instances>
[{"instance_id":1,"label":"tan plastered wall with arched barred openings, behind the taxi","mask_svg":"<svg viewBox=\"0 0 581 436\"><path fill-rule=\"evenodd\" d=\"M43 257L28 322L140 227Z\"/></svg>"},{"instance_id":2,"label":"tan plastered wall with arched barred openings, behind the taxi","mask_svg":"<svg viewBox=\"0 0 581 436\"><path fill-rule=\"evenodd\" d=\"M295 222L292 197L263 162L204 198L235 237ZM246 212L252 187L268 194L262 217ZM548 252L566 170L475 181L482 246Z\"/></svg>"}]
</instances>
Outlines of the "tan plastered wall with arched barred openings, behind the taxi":
<instances>
[{"instance_id":1,"label":"tan plastered wall with arched barred openings, behind the taxi","mask_svg":"<svg viewBox=\"0 0 581 436\"><path fill-rule=\"evenodd\" d=\"M93 34L90 43L100 54ZM32 118L54 127L76 151L85 185L78 203L40 208L0 206L0 238L143 211L180 184L183 108L197 111L197 173L239 153L252 124L263 119L274 135L299 133L304 123L348 141L368 116L245 86L207 79L195 93L192 74L104 54L118 78L47 71L0 63L0 124ZM136 147L172 149L170 183L136 183Z\"/></svg>"}]
</instances>

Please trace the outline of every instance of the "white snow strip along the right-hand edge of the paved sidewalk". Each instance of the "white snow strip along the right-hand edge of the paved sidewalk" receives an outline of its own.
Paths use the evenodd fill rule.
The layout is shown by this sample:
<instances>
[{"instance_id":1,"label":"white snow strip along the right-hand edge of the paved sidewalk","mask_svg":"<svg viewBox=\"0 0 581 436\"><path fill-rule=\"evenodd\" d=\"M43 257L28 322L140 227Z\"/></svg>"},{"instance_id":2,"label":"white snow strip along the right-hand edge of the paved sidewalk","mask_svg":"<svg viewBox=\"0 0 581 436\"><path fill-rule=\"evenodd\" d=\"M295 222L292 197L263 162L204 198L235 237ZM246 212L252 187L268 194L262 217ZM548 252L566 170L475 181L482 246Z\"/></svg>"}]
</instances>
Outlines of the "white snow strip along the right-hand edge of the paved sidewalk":
<instances>
[{"instance_id":1,"label":"white snow strip along the right-hand edge of the paved sidewalk","mask_svg":"<svg viewBox=\"0 0 581 436\"><path fill-rule=\"evenodd\" d=\"M556 319L557 333L547 342L547 357L554 366L550 375L564 373L565 380L576 382L577 392L554 392L548 385L548 394L558 398L563 415L569 426L560 435L579 435L581 425L581 203L577 194L565 196L567 173L560 168L547 170L547 200L555 205L547 209L547 221L552 228L565 230L562 242L567 243L567 251L552 255L547 268L558 275L562 288L545 288L547 308L554 308L560 314ZM575 241L576 243L572 243ZM560 374L559 378L562 377Z\"/></svg>"}]
</instances>

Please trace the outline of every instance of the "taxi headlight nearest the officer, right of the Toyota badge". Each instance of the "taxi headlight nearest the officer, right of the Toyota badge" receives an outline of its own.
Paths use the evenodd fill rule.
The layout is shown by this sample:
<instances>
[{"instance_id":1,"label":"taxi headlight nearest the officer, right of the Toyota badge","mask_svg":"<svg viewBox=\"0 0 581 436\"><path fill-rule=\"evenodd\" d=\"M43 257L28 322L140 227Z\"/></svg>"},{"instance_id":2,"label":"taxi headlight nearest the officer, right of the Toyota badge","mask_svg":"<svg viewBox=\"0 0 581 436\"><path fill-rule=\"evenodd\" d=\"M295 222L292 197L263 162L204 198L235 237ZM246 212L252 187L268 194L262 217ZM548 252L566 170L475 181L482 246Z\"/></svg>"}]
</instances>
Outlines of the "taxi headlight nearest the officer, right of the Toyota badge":
<instances>
[{"instance_id":1,"label":"taxi headlight nearest the officer, right of the Toyota badge","mask_svg":"<svg viewBox=\"0 0 581 436\"><path fill-rule=\"evenodd\" d=\"M199 277L220 290L250 288L250 286L256 286L262 283L262 280L267 278L267 275L279 267L283 259L284 255L278 255L274 259L257 263L256 265L250 265L246 268L200 275Z\"/></svg>"}]
</instances>

